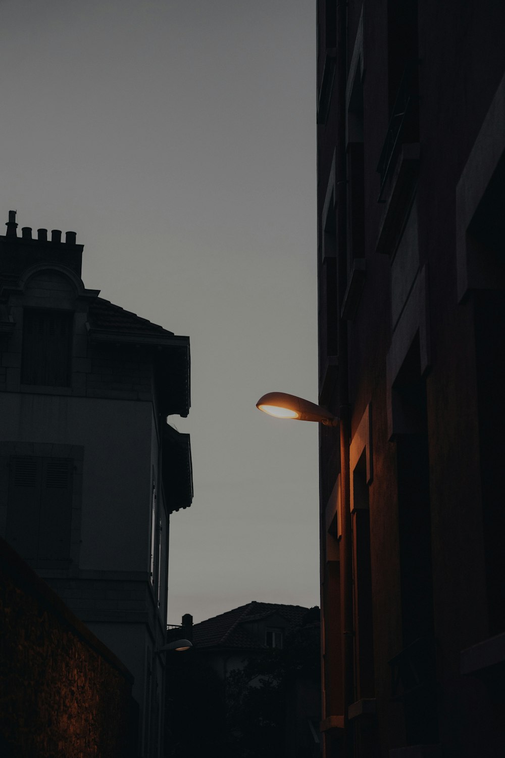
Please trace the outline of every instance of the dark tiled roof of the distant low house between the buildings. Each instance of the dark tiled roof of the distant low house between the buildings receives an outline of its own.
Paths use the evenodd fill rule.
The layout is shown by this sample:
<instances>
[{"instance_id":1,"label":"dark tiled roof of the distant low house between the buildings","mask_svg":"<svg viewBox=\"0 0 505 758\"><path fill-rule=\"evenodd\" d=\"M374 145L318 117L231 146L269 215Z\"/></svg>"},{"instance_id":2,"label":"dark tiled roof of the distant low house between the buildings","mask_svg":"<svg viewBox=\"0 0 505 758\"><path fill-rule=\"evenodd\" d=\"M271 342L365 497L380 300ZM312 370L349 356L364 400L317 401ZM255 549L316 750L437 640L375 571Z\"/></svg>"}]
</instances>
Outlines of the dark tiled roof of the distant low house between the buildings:
<instances>
[{"instance_id":1,"label":"dark tiled roof of the distant low house between the buildings","mask_svg":"<svg viewBox=\"0 0 505 758\"><path fill-rule=\"evenodd\" d=\"M308 608L253 600L226 613L193 626L193 643L197 647L258 647L257 640L243 626L276 613L288 622L288 629L301 625Z\"/></svg>"}]
</instances>

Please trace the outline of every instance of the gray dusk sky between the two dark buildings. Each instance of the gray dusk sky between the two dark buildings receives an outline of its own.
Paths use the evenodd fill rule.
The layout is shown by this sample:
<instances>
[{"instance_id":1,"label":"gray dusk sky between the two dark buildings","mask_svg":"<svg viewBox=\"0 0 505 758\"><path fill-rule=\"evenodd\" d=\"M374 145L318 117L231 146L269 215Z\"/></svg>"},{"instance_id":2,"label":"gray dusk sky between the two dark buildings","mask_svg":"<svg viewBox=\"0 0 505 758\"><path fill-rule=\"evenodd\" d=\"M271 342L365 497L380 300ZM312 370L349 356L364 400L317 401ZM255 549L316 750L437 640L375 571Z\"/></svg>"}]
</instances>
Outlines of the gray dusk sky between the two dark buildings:
<instances>
[{"instance_id":1,"label":"gray dusk sky between the two dark buildings","mask_svg":"<svg viewBox=\"0 0 505 758\"><path fill-rule=\"evenodd\" d=\"M315 42L308 0L0 0L0 222L191 340L170 623L319 604L316 424L255 409L317 395Z\"/></svg>"}]
</instances>

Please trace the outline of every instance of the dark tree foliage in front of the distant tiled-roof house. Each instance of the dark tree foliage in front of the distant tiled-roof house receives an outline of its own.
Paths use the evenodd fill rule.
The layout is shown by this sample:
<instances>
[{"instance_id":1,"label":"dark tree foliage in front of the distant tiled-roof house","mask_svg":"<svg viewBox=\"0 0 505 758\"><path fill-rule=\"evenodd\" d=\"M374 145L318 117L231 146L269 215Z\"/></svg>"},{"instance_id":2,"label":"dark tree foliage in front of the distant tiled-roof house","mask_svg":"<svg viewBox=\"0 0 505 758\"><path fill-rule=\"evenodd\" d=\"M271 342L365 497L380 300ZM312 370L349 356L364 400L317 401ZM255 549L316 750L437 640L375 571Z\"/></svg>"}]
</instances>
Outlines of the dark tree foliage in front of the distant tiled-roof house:
<instances>
[{"instance_id":1,"label":"dark tree foliage in front of the distant tiled-roof house","mask_svg":"<svg viewBox=\"0 0 505 758\"><path fill-rule=\"evenodd\" d=\"M282 649L251 650L226 684L198 648L170 656L167 679L166 758L282 758L295 685L320 681L319 608Z\"/></svg>"}]
</instances>

